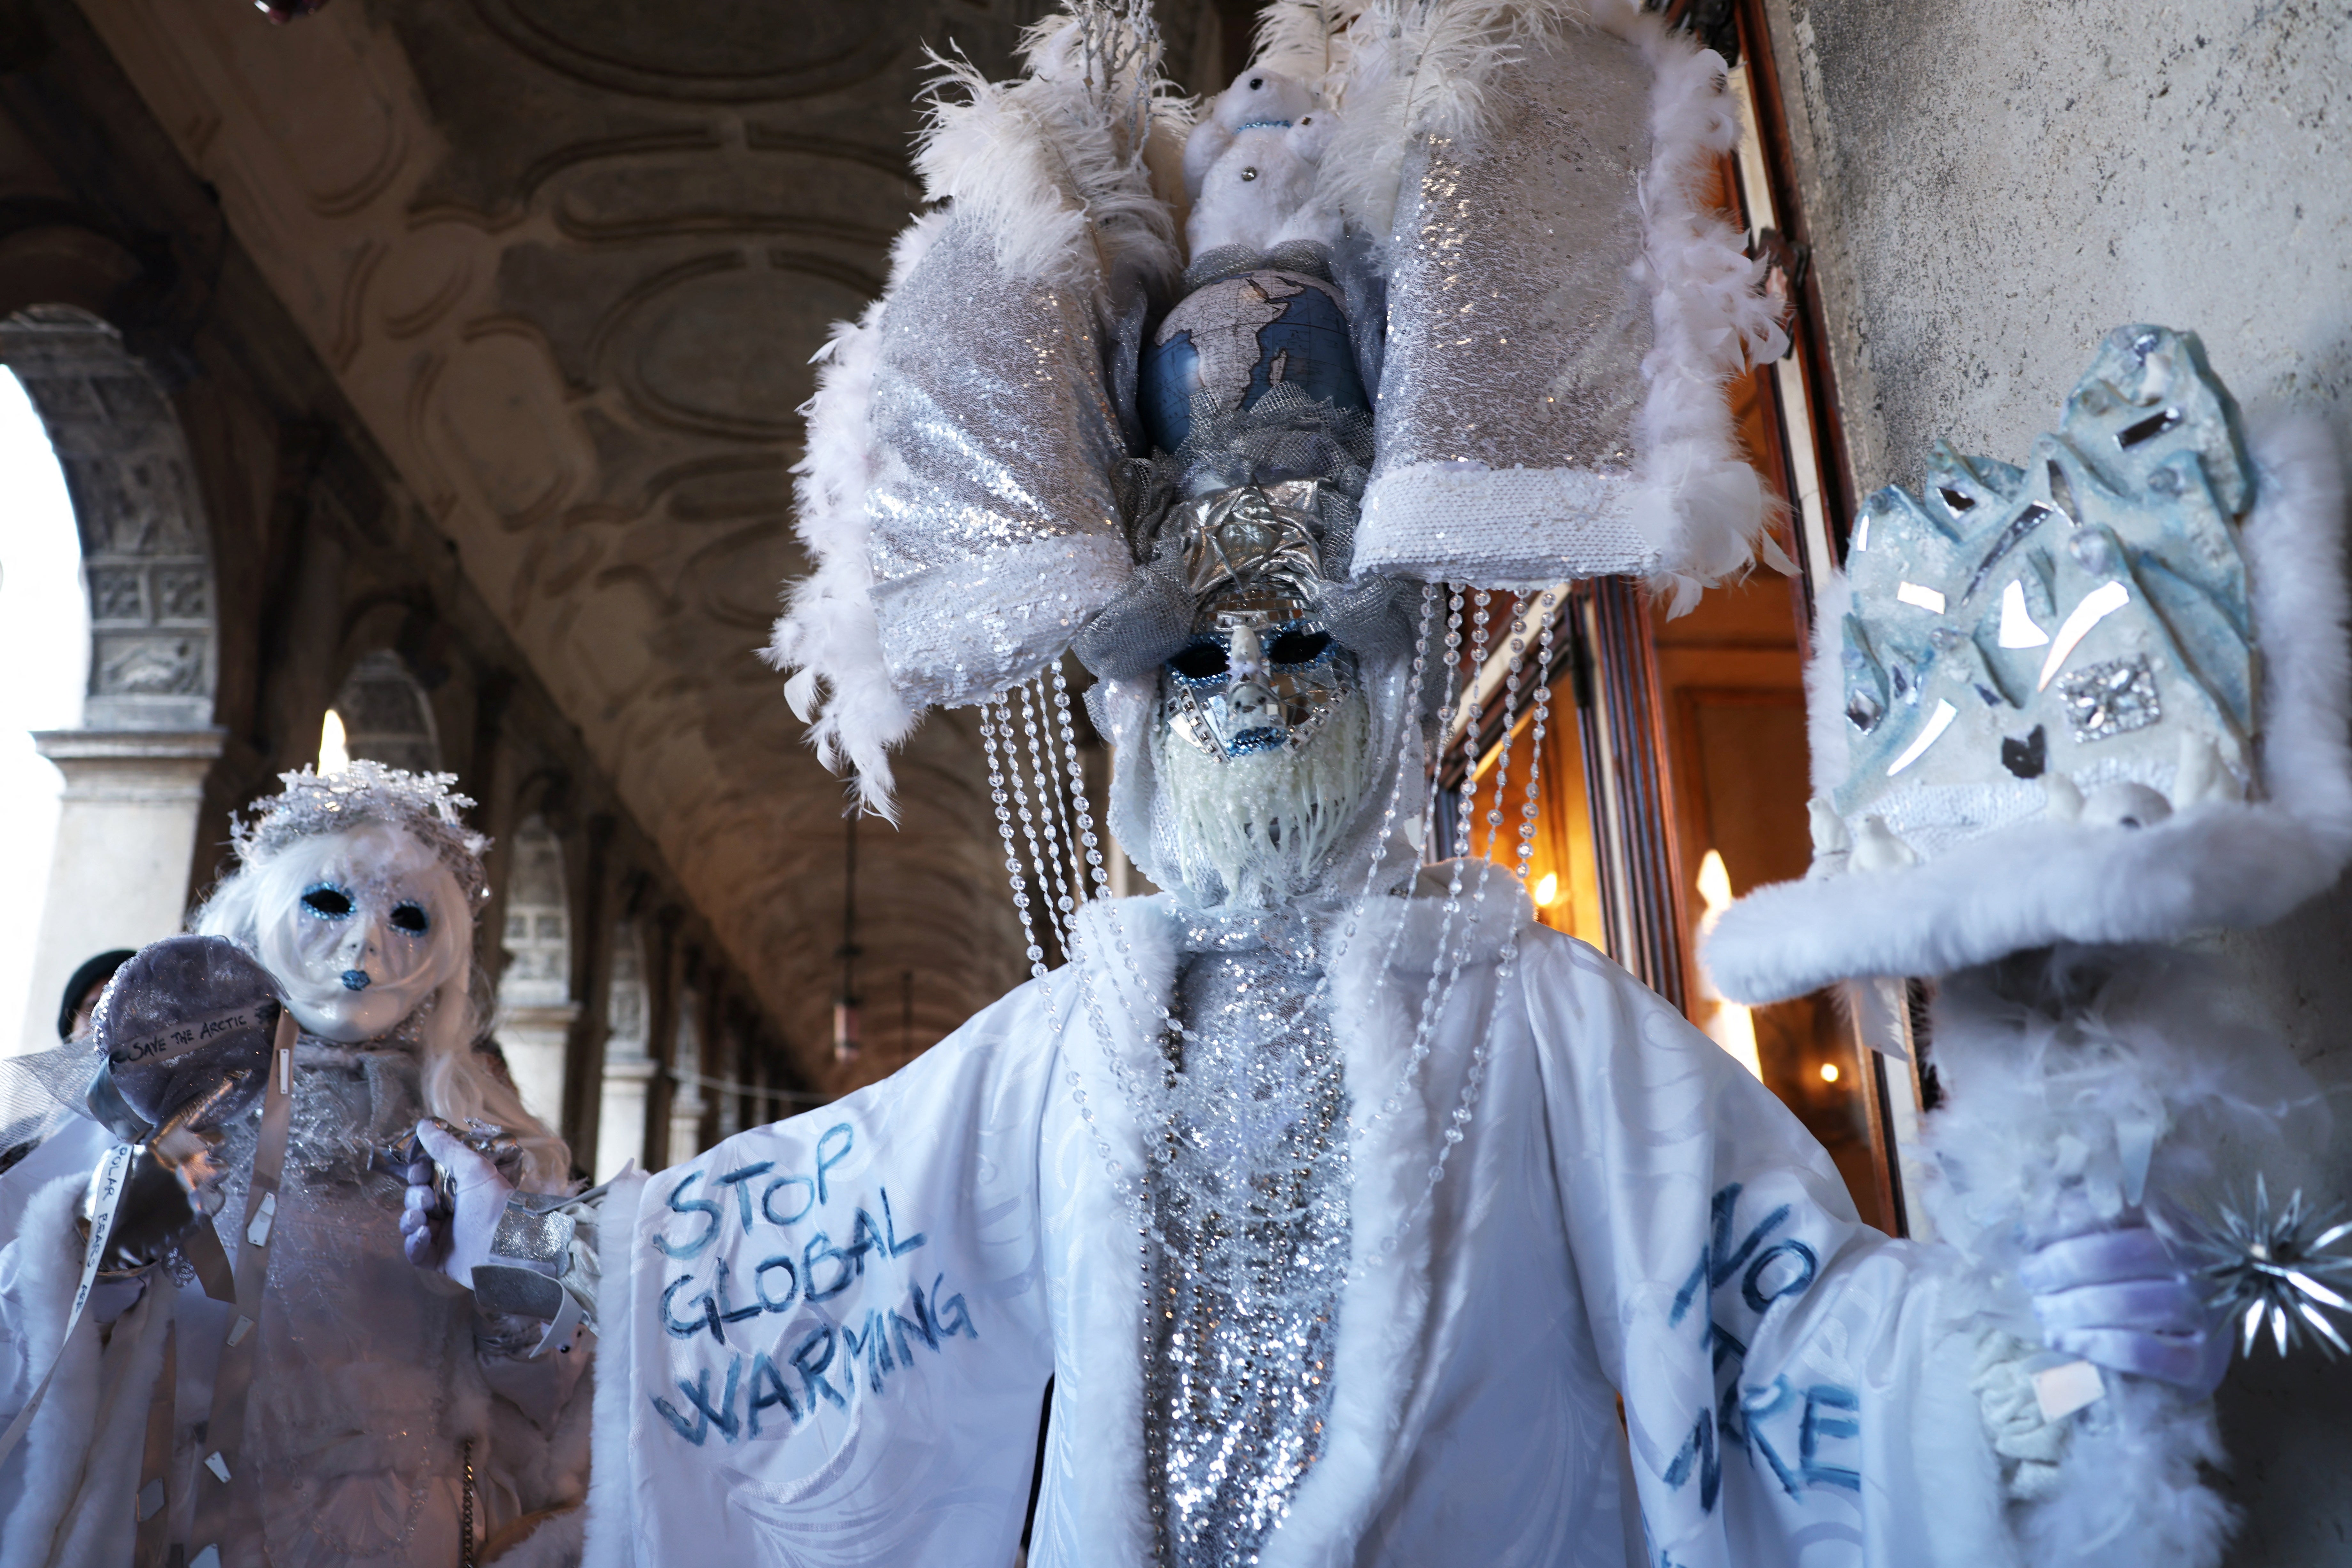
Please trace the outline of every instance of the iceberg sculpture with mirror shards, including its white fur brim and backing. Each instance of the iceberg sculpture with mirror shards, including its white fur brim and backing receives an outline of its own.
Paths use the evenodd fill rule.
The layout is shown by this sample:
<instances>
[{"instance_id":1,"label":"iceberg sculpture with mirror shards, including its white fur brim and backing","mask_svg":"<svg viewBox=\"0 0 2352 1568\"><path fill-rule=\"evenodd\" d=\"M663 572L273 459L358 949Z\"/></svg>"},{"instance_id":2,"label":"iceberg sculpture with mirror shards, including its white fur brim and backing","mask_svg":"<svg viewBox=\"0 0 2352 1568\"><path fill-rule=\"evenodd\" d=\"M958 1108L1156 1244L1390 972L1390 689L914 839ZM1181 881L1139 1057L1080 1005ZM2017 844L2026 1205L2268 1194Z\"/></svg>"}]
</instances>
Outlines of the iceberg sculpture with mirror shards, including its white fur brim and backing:
<instances>
[{"instance_id":1,"label":"iceberg sculpture with mirror shards, including its white fur brim and backing","mask_svg":"<svg viewBox=\"0 0 2352 1568\"><path fill-rule=\"evenodd\" d=\"M2249 440L2194 334L2119 327L2023 465L1929 454L1820 595L1813 870L1726 997L2277 919L2352 853L2343 477Z\"/></svg>"}]
</instances>

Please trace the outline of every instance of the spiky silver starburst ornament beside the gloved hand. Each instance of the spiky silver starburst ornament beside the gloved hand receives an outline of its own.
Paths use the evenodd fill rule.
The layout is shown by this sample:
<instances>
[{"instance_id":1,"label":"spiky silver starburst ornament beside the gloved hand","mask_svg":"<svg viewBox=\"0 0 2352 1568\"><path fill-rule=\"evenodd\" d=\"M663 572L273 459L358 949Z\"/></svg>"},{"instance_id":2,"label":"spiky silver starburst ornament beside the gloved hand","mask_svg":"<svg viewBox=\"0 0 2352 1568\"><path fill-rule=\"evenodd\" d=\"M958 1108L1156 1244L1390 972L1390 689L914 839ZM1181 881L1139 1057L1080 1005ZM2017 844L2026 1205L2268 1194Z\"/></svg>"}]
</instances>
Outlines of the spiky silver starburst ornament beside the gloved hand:
<instances>
[{"instance_id":1,"label":"spiky silver starburst ornament beside the gloved hand","mask_svg":"<svg viewBox=\"0 0 2352 1568\"><path fill-rule=\"evenodd\" d=\"M2305 1342L2328 1356L2352 1352L2328 1321L2328 1312L2352 1312L2328 1284L2352 1279L2352 1255L2328 1251L2352 1237L2352 1220L2333 1222L2336 1213L2307 1206L2300 1187L2272 1213L2270 1185L2256 1175L2249 1211L2223 1204L2220 1220L2185 1237L2209 1300L2239 1321L2239 1354L2253 1354L2265 1324L2281 1356Z\"/></svg>"}]
</instances>

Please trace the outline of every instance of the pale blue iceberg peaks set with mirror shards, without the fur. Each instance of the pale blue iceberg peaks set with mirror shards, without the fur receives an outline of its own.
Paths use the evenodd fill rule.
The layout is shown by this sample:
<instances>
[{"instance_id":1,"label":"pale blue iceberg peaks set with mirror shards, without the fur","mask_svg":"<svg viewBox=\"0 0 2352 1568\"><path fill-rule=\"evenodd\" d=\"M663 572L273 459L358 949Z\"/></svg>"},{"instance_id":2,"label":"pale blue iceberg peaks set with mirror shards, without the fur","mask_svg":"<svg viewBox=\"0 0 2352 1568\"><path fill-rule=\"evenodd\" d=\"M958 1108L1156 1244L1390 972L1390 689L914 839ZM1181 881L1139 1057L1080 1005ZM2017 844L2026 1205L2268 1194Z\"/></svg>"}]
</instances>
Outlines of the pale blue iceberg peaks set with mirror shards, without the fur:
<instances>
[{"instance_id":1,"label":"pale blue iceberg peaks set with mirror shards, without the fur","mask_svg":"<svg viewBox=\"0 0 2352 1568\"><path fill-rule=\"evenodd\" d=\"M2110 336L2023 470L1938 444L1922 489L1875 494L1870 543L1846 557L1846 712L1884 719L1849 724L1842 818L1882 816L1931 853L2044 811L2046 771L2171 795L2206 745L2213 785L2244 790L2249 475L2194 336ZM2034 766L2004 764L2037 729Z\"/></svg>"}]
</instances>

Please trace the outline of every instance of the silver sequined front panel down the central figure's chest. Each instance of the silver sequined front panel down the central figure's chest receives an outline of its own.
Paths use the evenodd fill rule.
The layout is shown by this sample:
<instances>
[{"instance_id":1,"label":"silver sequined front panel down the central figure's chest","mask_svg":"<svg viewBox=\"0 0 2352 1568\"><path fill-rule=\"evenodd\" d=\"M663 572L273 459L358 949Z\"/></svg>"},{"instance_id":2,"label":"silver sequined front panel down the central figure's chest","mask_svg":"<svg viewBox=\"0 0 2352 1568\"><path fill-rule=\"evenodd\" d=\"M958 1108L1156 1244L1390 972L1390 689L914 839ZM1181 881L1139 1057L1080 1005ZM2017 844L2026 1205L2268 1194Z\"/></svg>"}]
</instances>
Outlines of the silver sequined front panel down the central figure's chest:
<instances>
[{"instance_id":1,"label":"silver sequined front panel down the central figure's chest","mask_svg":"<svg viewBox=\"0 0 2352 1568\"><path fill-rule=\"evenodd\" d=\"M1348 1272L1348 1086L1308 933L1197 922L1152 1211L1145 1467L1160 1561L1256 1563L1324 1450Z\"/></svg>"}]
</instances>

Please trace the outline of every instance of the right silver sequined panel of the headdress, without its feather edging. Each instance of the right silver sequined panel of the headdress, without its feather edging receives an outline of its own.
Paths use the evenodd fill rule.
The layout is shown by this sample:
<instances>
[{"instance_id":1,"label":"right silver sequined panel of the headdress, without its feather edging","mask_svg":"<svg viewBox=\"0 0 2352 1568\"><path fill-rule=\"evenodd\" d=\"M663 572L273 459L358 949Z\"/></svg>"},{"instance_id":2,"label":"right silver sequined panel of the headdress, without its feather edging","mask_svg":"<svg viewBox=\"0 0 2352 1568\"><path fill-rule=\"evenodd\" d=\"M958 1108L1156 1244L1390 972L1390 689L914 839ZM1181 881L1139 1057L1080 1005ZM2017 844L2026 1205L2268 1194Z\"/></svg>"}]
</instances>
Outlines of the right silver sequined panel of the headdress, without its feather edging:
<instances>
[{"instance_id":1,"label":"right silver sequined panel of the headdress, without its feather edging","mask_svg":"<svg viewBox=\"0 0 2352 1568\"><path fill-rule=\"evenodd\" d=\"M1649 80L1632 45L1578 33L1498 73L1477 143L1406 155L1357 569L1642 569L1623 510L1653 341ZM1465 491L1461 470L1491 480Z\"/></svg>"}]
</instances>

